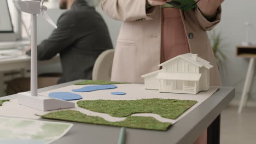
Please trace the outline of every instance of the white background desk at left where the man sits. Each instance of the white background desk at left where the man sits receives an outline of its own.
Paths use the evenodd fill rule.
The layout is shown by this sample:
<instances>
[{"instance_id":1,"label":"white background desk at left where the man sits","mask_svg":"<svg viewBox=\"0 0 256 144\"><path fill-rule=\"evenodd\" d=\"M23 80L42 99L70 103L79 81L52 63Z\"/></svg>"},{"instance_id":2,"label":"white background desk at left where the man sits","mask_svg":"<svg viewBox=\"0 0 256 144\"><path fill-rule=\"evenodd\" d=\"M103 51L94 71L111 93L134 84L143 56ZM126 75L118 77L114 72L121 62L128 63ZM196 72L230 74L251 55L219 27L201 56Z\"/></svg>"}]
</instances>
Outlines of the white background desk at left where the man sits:
<instances>
[{"instance_id":1,"label":"white background desk at left where the man sits","mask_svg":"<svg viewBox=\"0 0 256 144\"><path fill-rule=\"evenodd\" d=\"M1 53L4 53L4 55L1 55ZM10 56L10 53L13 56ZM0 97L4 94L4 71L21 70L21 75L24 77L25 71L30 69L30 59L30 56L20 54L20 51L17 49L0 50ZM53 63L60 63L59 55L48 61L38 61L38 67Z\"/></svg>"}]
</instances>

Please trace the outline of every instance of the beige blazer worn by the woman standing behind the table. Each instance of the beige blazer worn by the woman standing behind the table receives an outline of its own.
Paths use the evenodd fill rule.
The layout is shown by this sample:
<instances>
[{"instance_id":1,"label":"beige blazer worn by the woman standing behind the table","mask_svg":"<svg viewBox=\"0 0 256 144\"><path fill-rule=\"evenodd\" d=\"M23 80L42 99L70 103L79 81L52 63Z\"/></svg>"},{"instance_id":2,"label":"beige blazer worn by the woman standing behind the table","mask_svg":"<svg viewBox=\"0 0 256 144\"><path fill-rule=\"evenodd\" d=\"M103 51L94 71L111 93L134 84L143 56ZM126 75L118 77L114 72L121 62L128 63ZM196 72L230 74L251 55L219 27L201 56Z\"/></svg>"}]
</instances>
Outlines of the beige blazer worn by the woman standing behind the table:
<instances>
[{"instance_id":1,"label":"beige blazer worn by the woman standing behind the table","mask_svg":"<svg viewBox=\"0 0 256 144\"><path fill-rule=\"evenodd\" d=\"M101 0L103 11L115 20L121 20L117 46L115 48L112 81L144 83L141 75L159 70L161 46L161 7L146 11L146 0ZM211 62L210 85L221 86L216 59L206 31L220 21L209 22L198 8L182 11L191 53Z\"/></svg>"}]
</instances>

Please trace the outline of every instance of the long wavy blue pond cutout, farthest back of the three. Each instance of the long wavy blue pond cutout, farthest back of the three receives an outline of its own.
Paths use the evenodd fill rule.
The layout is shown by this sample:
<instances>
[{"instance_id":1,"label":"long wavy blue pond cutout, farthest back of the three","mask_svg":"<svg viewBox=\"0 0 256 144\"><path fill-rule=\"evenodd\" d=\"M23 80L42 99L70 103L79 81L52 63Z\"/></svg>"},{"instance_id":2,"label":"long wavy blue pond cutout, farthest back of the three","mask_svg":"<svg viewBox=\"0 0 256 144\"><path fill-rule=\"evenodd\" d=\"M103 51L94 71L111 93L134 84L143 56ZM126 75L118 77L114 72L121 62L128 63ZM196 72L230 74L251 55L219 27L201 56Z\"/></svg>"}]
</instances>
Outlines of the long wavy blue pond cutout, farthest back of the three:
<instances>
[{"instance_id":1,"label":"long wavy blue pond cutout, farthest back of the three","mask_svg":"<svg viewBox=\"0 0 256 144\"><path fill-rule=\"evenodd\" d=\"M96 85L96 86L86 86L79 89L73 89L73 92L92 92L92 91L98 91L103 89L113 89L117 88L115 85Z\"/></svg>"}]
</instances>

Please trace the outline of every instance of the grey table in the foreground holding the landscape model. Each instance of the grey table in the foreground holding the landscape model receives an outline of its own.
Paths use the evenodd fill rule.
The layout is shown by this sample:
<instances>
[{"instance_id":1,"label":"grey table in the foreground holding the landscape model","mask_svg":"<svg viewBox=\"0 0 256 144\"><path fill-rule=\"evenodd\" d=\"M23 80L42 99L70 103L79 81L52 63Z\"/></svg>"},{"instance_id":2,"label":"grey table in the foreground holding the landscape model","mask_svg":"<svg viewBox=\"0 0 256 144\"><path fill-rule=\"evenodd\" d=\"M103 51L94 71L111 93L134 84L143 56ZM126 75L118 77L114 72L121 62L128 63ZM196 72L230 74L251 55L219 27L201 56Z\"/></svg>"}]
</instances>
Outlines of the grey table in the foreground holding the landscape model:
<instances>
[{"instance_id":1,"label":"grey table in the foreground holding the landscape model","mask_svg":"<svg viewBox=\"0 0 256 144\"><path fill-rule=\"evenodd\" d=\"M39 93L53 89L73 85L77 80L60 85L38 89ZM208 144L219 144L220 134L220 113L225 109L230 101L235 97L235 88L220 87L210 98L197 106L167 131L142 130L127 128L126 143L192 143L208 127ZM16 99L17 94L3 97L1 99ZM42 119L44 121L50 121ZM63 121L62 121L63 122ZM73 123L74 127L68 131L67 135L53 144L69 143L117 143L120 127L107 125Z\"/></svg>"}]
</instances>

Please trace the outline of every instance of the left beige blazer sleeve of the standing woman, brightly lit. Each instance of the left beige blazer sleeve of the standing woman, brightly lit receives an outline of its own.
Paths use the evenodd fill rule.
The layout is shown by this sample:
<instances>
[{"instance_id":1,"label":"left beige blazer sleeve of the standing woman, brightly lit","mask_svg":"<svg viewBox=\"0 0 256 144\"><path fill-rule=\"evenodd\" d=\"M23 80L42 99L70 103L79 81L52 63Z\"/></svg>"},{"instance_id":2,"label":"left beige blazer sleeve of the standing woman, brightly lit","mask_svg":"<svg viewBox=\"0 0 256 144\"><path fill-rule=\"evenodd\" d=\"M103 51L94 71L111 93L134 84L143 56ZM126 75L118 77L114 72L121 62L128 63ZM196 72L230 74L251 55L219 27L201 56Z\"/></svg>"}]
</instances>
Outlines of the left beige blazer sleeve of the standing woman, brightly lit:
<instances>
[{"instance_id":1,"label":"left beige blazer sleeve of the standing woman, brightly lit","mask_svg":"<svg viewBox=\"0 0 256 144\"><path fill-rule=\"evenodd\" d=\"M104 13L115 20L152 20L146 10L146 0L101 0L101 7Z\"/></svg>"}]
</instances>

